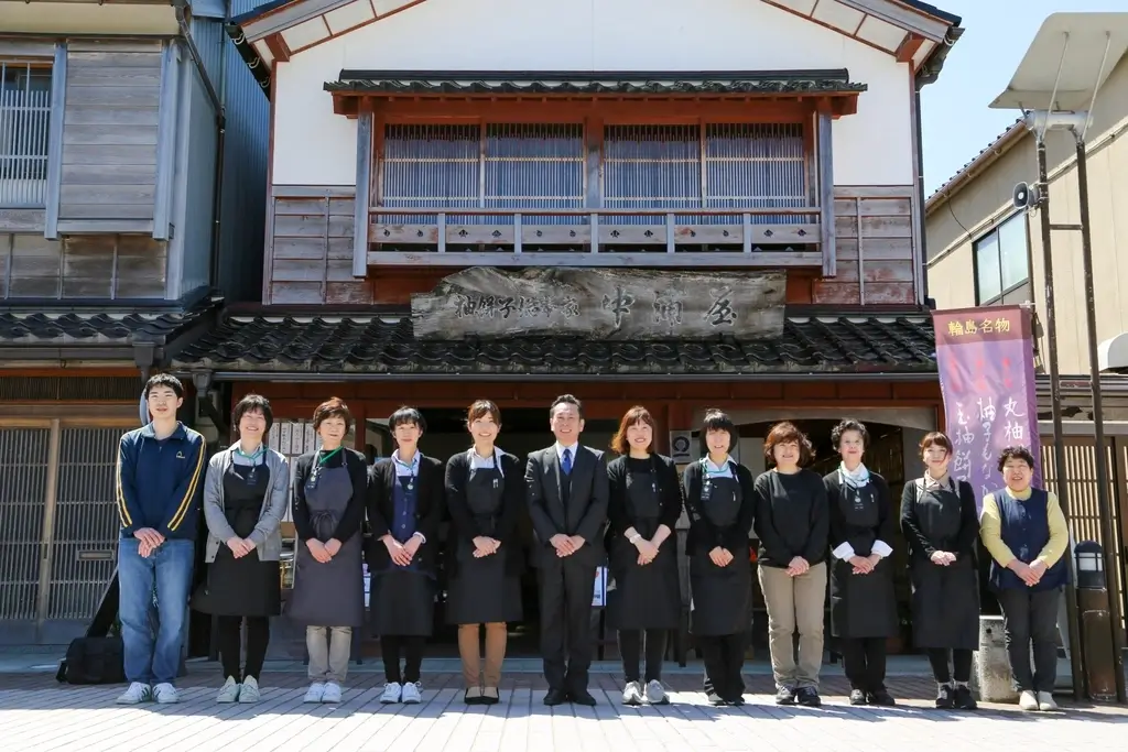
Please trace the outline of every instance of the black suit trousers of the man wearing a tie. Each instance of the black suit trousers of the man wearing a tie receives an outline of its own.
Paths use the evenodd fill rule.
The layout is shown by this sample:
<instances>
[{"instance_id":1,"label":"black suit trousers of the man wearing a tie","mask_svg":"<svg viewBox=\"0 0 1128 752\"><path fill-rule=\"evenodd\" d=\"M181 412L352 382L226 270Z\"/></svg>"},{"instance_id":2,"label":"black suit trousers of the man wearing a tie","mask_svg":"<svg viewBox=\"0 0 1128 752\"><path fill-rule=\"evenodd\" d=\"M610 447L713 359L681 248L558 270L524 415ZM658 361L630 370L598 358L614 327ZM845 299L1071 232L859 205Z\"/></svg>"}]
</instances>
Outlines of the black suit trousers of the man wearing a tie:
<instances>
[{"instance_id":1,"label":"black suit trousers of the man wearing a tie","mask_svg":"<svg viewBox=\"0 0 1128 752\"><path fill-rule=\"evenodd\" d=\"M555 557L555 552L552 555ZM593 647L591 599L596 594L596 565L576 559L578 556L555 560L545 556L537 569L540 580L540 655L549 689L588 689Z\"/></svg>"}]
</instances>

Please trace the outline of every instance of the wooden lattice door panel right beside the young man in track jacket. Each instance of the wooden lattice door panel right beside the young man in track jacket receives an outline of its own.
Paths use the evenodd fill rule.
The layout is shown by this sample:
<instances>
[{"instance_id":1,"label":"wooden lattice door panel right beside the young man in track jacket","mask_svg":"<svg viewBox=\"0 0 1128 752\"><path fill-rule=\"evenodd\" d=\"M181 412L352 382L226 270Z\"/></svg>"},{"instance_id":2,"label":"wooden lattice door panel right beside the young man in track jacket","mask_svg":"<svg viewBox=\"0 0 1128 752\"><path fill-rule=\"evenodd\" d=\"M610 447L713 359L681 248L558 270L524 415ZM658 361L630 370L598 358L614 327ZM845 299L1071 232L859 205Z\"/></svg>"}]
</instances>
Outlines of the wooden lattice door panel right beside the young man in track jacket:
<instances>
[{"instance_id":1,"label":"wooden lattice door panel right beside the young man in track jacket","mask_svg":"<svg viewBox=\"0 0 1128 752\"><path fill-rule=\"evenodd\" d=\"M121 428L63 428L46 618L92 618L114 576L120 523L114 468Z\"/></svg>"}]
</instances>

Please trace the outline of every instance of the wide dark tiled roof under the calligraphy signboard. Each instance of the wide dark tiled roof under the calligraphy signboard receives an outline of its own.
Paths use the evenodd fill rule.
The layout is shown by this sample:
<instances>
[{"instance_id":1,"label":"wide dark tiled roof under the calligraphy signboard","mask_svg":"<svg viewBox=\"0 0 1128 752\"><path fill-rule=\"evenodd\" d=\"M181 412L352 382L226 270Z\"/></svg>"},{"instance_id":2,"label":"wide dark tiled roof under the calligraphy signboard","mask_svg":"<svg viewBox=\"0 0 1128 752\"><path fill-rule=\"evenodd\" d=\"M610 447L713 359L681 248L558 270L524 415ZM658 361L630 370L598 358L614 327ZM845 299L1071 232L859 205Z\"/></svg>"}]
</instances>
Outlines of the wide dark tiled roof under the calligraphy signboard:
<instances>
[{"instance_id":1,"label":"wide dark tiled roof under the calligraphy signboard","mask_svg":"<svg viewBox=\"0 0 1128 752\"><path fill-rule=\"evenodd\" d=\"M931 317L790 316L772 340L417 339L409 317L229 316L174 368L404 375L933 373Z\"/></svg>"}]
</instances>

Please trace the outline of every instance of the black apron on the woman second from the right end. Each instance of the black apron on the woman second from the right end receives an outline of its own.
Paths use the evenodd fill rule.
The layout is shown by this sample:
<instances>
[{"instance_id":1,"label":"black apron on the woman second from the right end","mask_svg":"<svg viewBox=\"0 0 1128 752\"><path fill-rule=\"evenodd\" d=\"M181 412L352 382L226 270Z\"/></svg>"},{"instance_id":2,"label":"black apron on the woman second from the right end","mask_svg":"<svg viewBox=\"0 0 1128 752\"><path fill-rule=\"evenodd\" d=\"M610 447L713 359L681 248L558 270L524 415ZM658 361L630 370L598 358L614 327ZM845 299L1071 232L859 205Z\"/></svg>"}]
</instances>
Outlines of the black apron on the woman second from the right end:
<instances>
[{"instance_id":1,"label":"black apron on the woman second from the right end","mask_svg":"<svg viewBox=\"0 0 1128 752\"><path fill-rule=\"evenodd\" d=\"M960 530L959 494L951 488L922 490L919 483L913 487L922 534L941 543L955 540ZM920 648L979 649L979 572L975 557L959 554L945 567L914 556L909 575L913 643Z\"/></svg>"}]
</instances>

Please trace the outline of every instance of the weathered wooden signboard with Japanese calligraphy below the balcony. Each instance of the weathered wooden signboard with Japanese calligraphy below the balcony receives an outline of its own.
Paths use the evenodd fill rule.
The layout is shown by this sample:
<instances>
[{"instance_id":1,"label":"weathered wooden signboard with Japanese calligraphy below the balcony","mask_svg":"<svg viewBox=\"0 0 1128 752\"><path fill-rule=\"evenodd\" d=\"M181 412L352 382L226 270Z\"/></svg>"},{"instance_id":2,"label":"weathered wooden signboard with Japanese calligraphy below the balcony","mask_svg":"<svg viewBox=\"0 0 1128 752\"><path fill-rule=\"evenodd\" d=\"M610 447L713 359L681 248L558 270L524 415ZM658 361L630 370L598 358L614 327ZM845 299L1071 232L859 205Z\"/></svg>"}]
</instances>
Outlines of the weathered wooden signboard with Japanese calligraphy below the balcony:
<instances>
[{"instance_id":1,"label":"weathered wooden signboard with Japanese calligraphy below the balcony","mask_svg":"<svg viewBox=\"0 0 1128 752\"><path fill-rule=\"evenodd\" d=\"M744 339L783 334L782 272L469 268L412 295L426 339L579 335L600 339Z\"/></svg>"}]
</instances>

